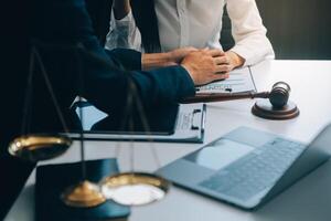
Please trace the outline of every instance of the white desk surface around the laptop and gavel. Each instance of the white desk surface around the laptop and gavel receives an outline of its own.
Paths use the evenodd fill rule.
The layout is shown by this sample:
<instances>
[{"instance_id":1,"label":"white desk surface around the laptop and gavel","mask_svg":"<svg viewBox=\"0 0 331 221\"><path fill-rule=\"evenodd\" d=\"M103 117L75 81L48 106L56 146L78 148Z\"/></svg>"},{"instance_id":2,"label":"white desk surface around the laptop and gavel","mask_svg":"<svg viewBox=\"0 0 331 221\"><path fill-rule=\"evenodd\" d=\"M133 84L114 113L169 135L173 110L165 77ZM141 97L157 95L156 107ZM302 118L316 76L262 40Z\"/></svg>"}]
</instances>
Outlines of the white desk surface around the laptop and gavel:
<instances>
[{"instance_id":1,"label":"white desk surface around the laptop and gavel","mask_svg":"<svg viewBox=\"0 0 331 221\"><path fill-rule=\"evenodd\" d=\"M290 99L297 103L301 110L300 116L280 122L257 118L250 114L250 107L254 105L254 101L250 99L209 104L204 144L238 126L249 126L308 143L331 122L331 61L266 61L252 67L252 71L258 91L269 91L277 81L289 83L292 88ZM147 171L157 169L150 148L157 150L161 164L166 165L201 146L201 144L137 143L135 144L135 168ZM88 141L86 156L88 159L115 157L117 147L121 149L118 155L120 168L128 169L130 145L127 143ZM75 144L64 156L46 164L78 160L78 149ZM29 178L7 221L34 220L34 176L33 172ZM132 208L129 220L330 220L330 161L259 210L252 212L172 187L163 201Z\"/></svg>"}]
</instances>

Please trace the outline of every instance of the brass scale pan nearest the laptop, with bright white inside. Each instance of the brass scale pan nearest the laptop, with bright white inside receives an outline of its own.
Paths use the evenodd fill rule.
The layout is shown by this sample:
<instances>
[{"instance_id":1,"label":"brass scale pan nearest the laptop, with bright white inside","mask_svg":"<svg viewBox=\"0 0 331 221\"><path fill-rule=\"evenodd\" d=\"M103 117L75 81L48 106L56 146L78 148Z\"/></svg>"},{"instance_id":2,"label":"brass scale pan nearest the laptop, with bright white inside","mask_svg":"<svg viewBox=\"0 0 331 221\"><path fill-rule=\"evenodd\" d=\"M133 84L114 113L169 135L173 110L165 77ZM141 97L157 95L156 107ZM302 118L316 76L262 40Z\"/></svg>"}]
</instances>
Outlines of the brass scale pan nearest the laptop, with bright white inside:
<instances>
[{"instance_id":1,"label":"brass scale pan nearest the laptop, with bright white inside","mask_svg":"<svg viewBox=\"0 0 331 221\"><path fill-rule=\"evenodd\" d=\"M110 200L125 206L143 206L163 199L170 182L143 172L125 172L102 181L102 192Z\"/></svg>"}]
</instances>

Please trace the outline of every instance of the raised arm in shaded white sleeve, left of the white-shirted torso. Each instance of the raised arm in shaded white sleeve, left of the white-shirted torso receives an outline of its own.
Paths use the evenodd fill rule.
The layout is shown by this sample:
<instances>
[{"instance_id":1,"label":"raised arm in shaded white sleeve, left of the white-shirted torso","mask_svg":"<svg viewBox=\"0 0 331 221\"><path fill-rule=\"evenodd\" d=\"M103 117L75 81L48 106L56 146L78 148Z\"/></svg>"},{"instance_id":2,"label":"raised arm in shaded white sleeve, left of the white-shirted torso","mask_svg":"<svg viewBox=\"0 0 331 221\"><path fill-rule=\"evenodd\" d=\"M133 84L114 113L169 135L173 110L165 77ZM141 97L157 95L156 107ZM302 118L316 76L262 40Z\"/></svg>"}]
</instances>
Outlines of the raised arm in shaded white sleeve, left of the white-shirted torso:
<instances>
[{"instance_id":1,"label":"raised arm in shaded white sleeve, left of the white-shirted torso","mask_svg":"<svg viewBox=\"0 0 331 221\"><path fill-rule=\"evenodd\" d=\"M141 51L141 34L136 25L129 0L114 0L105 48Z\"/></svg>"}]
</instances>

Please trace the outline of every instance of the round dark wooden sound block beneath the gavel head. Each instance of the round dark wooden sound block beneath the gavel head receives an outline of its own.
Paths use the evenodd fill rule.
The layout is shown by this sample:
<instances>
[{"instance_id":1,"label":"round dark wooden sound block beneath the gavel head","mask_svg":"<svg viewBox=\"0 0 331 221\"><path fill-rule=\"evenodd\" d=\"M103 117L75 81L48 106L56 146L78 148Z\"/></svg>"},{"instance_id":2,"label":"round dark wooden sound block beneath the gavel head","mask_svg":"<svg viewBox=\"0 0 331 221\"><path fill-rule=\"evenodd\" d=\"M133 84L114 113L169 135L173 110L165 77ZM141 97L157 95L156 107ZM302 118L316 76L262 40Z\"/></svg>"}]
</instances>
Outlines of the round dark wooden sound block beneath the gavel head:
<instances>
[{"instance_id":1,"label":"round dark wooden sound block beneath the gavel head","mask_svg":"<svg viewBox=\"0 0 331 221\"><path fill-rule=\"evenodd\" d=\"M282 108L274 107L268 99L260 99L252 107L252 113L255 116L265 119L292 119L299 116L300 110L292 102L288 102Z\"/></svg>"}]
</instances>

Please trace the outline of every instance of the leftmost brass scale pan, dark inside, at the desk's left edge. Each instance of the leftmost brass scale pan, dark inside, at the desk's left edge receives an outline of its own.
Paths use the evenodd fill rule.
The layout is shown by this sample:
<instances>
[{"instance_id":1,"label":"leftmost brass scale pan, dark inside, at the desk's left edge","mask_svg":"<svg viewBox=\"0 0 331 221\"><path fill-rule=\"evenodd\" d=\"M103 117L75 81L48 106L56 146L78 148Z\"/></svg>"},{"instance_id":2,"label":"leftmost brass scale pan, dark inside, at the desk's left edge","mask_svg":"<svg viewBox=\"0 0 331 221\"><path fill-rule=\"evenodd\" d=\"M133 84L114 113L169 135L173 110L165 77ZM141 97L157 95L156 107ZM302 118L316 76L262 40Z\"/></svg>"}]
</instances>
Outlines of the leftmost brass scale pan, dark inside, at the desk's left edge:
<instances>
[{"instance_id":1,"label":"leftmost brass scale pan, dark inside, at the desk's left edge","mask_svg":"<svg viewBox=\"0 0 331 221\"><path fill-rule=\"evenodd\" d=\"M9 154L30 161L46 160L64 154L72 139L64 135L25 135L9 145Z\"/></svg>"}]
</instances>

